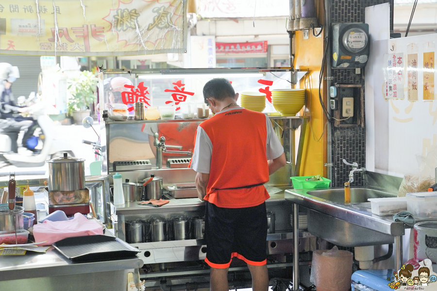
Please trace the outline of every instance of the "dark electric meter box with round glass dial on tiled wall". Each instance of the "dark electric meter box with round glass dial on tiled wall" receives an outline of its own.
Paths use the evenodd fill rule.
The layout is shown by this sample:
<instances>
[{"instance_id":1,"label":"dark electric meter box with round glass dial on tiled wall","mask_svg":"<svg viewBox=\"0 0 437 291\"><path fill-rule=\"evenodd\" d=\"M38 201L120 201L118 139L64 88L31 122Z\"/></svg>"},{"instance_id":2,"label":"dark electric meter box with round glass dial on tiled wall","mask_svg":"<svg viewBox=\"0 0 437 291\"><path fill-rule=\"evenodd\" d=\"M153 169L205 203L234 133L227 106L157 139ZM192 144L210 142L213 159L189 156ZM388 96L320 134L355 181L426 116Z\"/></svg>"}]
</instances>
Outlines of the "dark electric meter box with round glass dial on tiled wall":
<instances>
[{"instance_id":1,"label":"dark electric meter box with round glass dial on tiled wall","mask_svg":"<svg viewBox=\"0 0 437 291\"><path fill-rule=\"evenodd\" d=\"M369 58L369 25L336 23L332 26L332 67L360 68Z\"/></svg>"}]
</instances>

